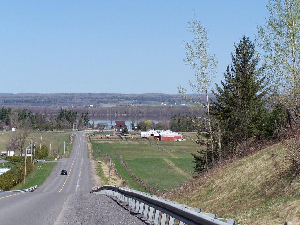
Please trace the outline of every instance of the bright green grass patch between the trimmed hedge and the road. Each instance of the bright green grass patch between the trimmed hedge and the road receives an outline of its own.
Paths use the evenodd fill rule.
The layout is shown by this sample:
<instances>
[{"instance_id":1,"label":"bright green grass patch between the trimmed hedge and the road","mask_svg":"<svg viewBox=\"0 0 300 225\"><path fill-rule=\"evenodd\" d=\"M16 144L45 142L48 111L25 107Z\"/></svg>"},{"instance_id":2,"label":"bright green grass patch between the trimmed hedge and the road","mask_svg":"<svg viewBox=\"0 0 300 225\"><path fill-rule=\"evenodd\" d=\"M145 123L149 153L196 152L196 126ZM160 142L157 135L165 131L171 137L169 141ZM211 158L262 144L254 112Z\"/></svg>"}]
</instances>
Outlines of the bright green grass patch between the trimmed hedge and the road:
<instances>
[{"instance_id":1,"label":"bright green grass patch between the trimmed hedge and the road","mask_svg":"<svg viewBox=\"0 0 300 225\"><path fill-rule=\"evenodd\" d=\"M52 172L53 167L57 165L54 163L36 163L32 171L26 176L26 186L24 188L24 181L14 186L11 190L21 190L32 187L34 185L41 185Z\"/></svg>"}]
</instances>

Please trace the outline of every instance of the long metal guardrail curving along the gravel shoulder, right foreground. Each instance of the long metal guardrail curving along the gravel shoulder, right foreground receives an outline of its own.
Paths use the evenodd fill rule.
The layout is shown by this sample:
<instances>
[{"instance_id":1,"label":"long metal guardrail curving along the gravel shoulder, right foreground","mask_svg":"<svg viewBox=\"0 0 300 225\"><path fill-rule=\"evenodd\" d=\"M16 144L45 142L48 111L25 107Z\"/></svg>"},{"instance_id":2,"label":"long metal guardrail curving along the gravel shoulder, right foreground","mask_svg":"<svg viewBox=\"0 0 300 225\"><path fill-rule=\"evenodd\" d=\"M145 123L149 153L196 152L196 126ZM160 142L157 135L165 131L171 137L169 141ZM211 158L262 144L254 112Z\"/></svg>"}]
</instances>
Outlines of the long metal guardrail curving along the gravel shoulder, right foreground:
<instances>
[{"instance_id":1,"label":"long metal guardrail curving along the gravel shoulder, right foreground","mask_svg":"<svg viewBox=\"0 0 300 225\"><path fill-rule=\"evenodd\" d=\"M104 185L91 191L91 193L96 192L117 197L155 224L235 225L233 219L217 218L216 214L203 213L201 209L190 208L188 205L118 186Z\"/></svg>"}]
</instances>

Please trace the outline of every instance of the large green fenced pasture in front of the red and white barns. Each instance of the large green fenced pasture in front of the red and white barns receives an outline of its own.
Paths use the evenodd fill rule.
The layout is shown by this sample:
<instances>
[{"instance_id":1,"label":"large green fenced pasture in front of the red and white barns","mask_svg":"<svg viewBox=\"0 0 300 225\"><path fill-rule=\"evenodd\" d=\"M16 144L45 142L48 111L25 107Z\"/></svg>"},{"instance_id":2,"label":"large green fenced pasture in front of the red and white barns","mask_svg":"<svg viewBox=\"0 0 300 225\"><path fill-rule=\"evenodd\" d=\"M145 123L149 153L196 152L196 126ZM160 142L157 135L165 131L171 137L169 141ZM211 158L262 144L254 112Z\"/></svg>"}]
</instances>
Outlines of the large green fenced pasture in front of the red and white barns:
<instances>
[{"instance_id":1,"label":"large green fenced pasture in front of the red and white barns","mask_svg":"<svg viewBox=\"0 0 300 225\"><path fill-rule=\"evenodd\" d=\"M131 171L143 182L160 191L180 186L194 175L194 163L191 152L199 146L191 140L158 141L145 140L92 140L95 159L104 155L121 155ZM97 145L98 144L98 145ZM99 149L98 149L99 147ZM114 164L119 164L113 158ZM117 168L117 166L116 166ZM124 168L124 167L123 167ZM120 166L117 168L123 170ZM125 168L124 168L125 169ZM129 175L129 174L128 174ZM127 181L128 175L120 176ZM140 190L140 187L137 187Z\"/></svg>"}]
</instances>

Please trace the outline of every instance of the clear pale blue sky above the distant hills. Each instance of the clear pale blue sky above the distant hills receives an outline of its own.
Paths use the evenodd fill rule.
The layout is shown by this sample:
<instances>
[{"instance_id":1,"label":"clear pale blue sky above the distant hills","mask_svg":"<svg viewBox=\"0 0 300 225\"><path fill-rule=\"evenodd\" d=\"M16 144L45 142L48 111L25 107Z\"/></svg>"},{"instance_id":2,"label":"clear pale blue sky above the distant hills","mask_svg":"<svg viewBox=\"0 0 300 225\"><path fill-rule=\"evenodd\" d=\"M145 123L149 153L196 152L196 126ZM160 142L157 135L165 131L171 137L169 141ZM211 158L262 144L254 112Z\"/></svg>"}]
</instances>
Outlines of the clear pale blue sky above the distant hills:
<instances>
[{"instance_id":1,"label":"clear pale blue sky above the distant hills","mask_svg":"<svg viewBox=\"0 0 300 225\"><path fill-rule=\"evenodd\" d=\"M218 66L233 44L254 41L268 16L253 1L4 1L0 0L1 93L191 92L194 72L182 41L193 18L208 30Z\"/></svg>"}]
</instances>

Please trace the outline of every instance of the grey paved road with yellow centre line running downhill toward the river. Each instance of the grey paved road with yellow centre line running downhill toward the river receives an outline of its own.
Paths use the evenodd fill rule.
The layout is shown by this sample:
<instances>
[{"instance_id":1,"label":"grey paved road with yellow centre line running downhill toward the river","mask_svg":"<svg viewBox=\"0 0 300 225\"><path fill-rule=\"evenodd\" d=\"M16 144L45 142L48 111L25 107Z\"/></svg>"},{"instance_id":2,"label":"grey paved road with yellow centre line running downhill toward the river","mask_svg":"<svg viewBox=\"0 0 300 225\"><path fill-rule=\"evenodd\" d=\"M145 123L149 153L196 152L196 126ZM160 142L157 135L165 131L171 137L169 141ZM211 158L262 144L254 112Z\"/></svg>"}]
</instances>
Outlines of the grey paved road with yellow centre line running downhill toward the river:
<instances>
[{"instance_id":1,"label":"grey paved road with yellow centre line running downhill toward the river","mask_svg":"<svg viewBox=\"0 0 300 225\"><path fill-rule=\"evenodd\" d=\"M90 193L86 133L76 132L70 157L61 159L34 192L0 193L0 224L148 224L110 197ZM67 170L67 176L60 171ZM136 215L136 216L135 216Z\"/></svg>"}]
</instances>

